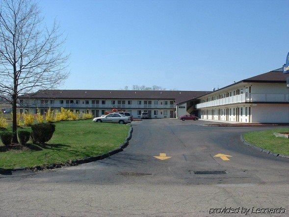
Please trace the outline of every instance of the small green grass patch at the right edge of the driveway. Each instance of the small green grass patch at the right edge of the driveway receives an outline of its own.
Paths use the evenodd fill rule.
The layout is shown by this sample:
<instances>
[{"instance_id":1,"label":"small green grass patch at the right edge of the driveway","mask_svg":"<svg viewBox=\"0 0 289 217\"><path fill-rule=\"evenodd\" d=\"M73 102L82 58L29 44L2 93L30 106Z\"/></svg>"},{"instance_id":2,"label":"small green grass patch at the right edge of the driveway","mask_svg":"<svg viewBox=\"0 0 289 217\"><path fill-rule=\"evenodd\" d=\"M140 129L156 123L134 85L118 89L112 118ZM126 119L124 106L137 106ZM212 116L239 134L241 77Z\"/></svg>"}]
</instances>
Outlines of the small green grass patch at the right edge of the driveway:
<instances>
[{"instance_id":1,"label":"small green grass patch at the right edge of the driveway","mask_svg":"<svg viewBox=\"0 0 289 217\"><path fill-rule=\"evenodd\" d=\"M283 137L275 137L274 132L289 132L289 128L281 128L266 131L256 131L244 134L244 139L256 146L278 154L289 155L289 139Z\"/></svg>"}]
</instances>

